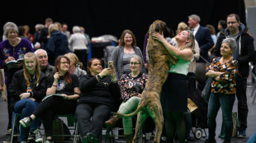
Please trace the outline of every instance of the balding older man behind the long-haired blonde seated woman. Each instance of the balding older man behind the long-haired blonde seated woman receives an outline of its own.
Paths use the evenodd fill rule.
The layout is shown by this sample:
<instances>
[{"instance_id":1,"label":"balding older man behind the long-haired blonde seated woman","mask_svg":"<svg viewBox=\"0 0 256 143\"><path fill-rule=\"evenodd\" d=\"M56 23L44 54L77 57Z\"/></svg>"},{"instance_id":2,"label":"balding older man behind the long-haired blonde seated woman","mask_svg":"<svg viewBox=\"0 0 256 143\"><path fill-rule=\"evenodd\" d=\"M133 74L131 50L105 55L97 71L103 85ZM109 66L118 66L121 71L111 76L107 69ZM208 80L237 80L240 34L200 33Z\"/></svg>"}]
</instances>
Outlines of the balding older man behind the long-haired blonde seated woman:
<instances>
[{"instance_id":1,"label":"balding older man behind the long-haired blonde seated woman","mask_svg":"<svg viewBox=\"0 0 256 143\"><path fill-rule=\"evenodd\" d=\"M36 57L39 62L40 71L45 73L45 76L51 76L55 74L55 67L50 66L48 63L48 55L44 49L36 50Z\"/></svg>"}]
</instances>

